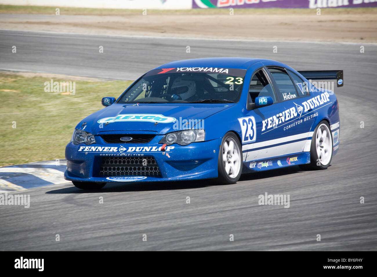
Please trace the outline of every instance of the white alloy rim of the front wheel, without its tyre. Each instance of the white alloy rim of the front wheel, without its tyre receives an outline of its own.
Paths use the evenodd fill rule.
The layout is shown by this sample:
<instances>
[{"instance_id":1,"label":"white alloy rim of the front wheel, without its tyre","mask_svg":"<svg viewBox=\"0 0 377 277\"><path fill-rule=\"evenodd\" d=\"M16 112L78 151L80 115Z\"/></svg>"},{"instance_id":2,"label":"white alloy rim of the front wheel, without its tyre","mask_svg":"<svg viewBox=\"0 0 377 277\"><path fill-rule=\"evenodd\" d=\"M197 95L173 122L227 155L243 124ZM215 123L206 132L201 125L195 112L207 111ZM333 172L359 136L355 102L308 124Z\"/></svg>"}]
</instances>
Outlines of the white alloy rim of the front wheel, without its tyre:
<instances>
[{"instance_id":1,"label":"white alloy rim of the front wheel, without its tyre","mask_svg":"<svg viewBox=\"0 0 377 277\"><path fill-rule=\"evenodd\" d=\"M230 178L236 178L242 166L241 149L231 136L224 141L222 147L222 162L225 173L227 173Z\"/></svg>"}]
</instances>

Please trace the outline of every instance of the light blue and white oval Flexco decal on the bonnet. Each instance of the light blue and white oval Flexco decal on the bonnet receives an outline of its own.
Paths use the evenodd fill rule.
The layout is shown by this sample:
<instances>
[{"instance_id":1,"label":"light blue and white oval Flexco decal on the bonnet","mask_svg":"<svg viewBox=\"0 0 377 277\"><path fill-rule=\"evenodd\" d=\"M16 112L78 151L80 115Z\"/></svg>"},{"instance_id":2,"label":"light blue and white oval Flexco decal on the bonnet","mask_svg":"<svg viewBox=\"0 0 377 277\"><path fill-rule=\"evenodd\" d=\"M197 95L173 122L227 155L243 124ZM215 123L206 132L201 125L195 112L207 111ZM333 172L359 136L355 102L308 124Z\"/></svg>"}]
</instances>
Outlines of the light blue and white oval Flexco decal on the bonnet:
<instances>
[{"instance_id":1,"label":"light blue and white oval Flexco decal on the bonnet","mask_svg":"<svg viewBox=\"0 0 377 277\"><path fill-rule=\"evenodd\" d=\"M174 117L155 115L155 114L127 114L105 117L98 120L98 123L107 122L124 122L124 121L144 121L144 122L158 122L158 123L171 123L176 121Z\"/></svg>"}]
</instances>

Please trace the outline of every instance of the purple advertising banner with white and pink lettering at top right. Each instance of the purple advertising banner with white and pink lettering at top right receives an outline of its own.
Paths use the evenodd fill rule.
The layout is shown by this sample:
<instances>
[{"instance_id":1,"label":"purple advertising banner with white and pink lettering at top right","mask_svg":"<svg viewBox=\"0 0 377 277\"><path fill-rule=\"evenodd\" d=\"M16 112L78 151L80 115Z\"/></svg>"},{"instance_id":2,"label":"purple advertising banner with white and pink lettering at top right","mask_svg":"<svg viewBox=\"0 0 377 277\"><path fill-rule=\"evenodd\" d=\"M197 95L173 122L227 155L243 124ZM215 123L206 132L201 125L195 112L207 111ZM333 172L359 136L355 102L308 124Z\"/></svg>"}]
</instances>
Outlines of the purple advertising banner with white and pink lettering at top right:
<instances>
[{"instance_id":1,"label":"purple advertising banner with white and pink lettering at top right","mask_svg":"<svg viewBox=\"0 0 377 277\"><path fill-rule=\"evenodd\" d=\"M193 8L362 8L377 0L193 0Z\"/></svg>"}]
</instances>

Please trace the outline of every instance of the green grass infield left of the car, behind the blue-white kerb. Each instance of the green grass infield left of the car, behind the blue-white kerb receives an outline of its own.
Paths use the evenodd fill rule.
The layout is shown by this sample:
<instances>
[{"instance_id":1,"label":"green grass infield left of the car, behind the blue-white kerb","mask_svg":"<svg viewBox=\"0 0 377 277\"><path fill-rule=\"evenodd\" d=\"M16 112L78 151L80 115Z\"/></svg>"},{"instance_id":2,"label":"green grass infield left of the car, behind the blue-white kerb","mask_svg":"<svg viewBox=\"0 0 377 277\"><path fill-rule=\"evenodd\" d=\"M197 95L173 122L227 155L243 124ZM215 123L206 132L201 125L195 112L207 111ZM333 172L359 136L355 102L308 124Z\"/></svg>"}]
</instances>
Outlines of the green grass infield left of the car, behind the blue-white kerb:
<instances>
[{"instance_id":1,"label":"green grass infield left of the car, behind the blue-white kerb","mask_svg":"<svg viewBox=\"0 0 377 277\"><path fill-rule=\"evenodd\" d=\"M61 95L44 92L46 81L0 72L0 166L63 159L77 123L103 108L102 97L117 97L131 84L76 80L75 95Z\"/></svg>"}]
</instances>

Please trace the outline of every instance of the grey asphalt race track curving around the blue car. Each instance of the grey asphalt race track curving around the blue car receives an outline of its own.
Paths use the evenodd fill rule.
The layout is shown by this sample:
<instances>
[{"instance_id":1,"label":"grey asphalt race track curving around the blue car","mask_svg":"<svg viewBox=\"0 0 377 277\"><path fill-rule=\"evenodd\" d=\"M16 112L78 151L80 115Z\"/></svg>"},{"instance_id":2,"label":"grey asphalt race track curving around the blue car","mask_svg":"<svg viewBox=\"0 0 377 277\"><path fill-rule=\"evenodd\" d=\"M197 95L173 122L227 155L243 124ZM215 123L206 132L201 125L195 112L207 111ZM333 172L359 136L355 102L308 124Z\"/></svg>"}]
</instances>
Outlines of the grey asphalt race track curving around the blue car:
<instances>
[{"instance_id":1,"label":"grey asphalt race track curving around the blue car","mask_svg":"<svg viewBox=\"0 0 377 277\"><path fill-rule=\"evenodd\" d=\"M360 53L361 45L365 53ZM271 58L297 70L343 69L344 86L335 89L341 143L331 167L249 174L235 185L109 183L88 192L69 182L31 189L21 192L30 194L30 208L0 206L0 249L377 250L376 44L0 31L0 69L5 70L132 80L171 60L215 56ZM258 205L265 192L290 194L290 208Z\"/></svg>"}]
</instances>

